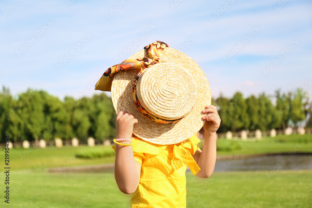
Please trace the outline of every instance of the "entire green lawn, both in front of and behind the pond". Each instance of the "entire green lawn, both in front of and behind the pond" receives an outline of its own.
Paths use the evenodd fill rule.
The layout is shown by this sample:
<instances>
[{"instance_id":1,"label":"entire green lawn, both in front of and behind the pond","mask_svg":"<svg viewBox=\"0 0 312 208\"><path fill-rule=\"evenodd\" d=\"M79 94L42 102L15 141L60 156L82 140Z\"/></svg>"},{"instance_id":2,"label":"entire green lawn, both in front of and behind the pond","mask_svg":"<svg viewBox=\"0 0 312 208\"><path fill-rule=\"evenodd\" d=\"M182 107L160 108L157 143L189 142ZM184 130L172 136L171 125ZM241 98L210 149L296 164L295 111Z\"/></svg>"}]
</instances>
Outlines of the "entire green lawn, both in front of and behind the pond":
<instances>
[{"instance_id":1,"label":"entire green lawn, both in front of and behind the pond","mask_svg":"<svg viewBox=\"0 0 312 208\"><path fill-rule=\"evenodd\" d=\"M203 142L199 145L201 146ZM219 139L218 155L312 152L312 135L277 136L257 141ZM0 207L130 207L111 172L46 172L48 167L114 163L111 146L47 147L10 150L10 204L4 203L4 165L0 166ZM112 154L113 153L113 154ZM79 155L79 157L75 157ZM4 149L0 152L4 162ZM82 157L91 157L82 158ZM311 207L312 170L215 172L202 179L187 172L187 207ZM297 205L296 205L296 204Z\"/></svg>"}]
</instances>

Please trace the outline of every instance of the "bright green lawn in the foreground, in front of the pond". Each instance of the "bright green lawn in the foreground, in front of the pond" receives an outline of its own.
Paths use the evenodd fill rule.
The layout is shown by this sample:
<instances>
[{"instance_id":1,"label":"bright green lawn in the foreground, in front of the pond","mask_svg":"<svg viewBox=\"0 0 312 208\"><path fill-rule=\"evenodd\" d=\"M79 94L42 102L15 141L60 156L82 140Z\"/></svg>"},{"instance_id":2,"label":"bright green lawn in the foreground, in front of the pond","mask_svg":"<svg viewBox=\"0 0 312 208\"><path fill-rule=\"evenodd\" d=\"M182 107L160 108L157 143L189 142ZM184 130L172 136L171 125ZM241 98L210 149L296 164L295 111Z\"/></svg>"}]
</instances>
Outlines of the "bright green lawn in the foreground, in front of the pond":
<instances>
[{"instance_id":1,"label":"bright green lawn in the foreground, in front of the pond","mask_svg":"<svg viewBox=\"0 0 312 208\"><path fill-rule=\"evenodd\" d=\"M296 207L311 207L312 171L278 171L270 179L266 173L213 173L203 179L188 172L187 207L291 207L295 202ZM119 191L113 173L12 171L10 204L2 199L0 207L68 208L82 203L86 208L125 208L130 198Z\"/></svg>"}]
</instances>

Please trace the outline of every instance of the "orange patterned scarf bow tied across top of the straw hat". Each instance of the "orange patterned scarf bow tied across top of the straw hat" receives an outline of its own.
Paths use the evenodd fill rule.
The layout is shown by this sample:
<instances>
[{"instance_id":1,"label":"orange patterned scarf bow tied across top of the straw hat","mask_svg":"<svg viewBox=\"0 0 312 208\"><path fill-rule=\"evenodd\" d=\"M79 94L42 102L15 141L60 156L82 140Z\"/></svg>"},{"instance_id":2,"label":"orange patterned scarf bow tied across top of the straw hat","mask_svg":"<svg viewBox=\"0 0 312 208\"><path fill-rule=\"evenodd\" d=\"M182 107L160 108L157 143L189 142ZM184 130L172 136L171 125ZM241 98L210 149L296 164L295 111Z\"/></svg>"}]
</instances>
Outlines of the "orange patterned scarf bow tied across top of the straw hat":
<instances>
[{"instance_id":1,"label":"orange patterned scarf bow tied across top of the straw hat","mask_svg":"<svg viewBox=\"0 0 312 208\"><path fill-rule=\"evenodd\" d=\"M161 41L155 41L152 44L149 44L148 46L145 46L144 49L147 49L147 53L149 54L150 58L141 58L141 59L127 59L121 62L120 64L116 64L110 68L108 68L103 76L110 77L111 74L114 74L119 71L128 71L132 69L145 69L153 64L162 62L159 59L160 54L163 52L163 49L165 47L169 47L168 44L161 42Z\"/></svg>"}]
</instances>

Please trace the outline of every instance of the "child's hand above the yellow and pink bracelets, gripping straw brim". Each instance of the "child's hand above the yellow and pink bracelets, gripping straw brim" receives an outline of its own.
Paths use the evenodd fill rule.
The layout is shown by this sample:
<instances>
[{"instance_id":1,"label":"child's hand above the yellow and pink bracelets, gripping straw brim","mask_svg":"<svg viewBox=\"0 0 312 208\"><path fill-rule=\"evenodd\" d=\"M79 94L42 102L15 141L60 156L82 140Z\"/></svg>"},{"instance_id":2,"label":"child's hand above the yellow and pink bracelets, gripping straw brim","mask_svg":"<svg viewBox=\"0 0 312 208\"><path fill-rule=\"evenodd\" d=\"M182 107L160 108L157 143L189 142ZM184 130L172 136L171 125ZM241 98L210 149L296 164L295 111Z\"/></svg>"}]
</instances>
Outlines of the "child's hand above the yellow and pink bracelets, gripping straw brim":
<instances>
[{"instance_id":1,"label":"child's hand above the yellow and pink bracelets, gripping straw brim","mask_svg":"<svg viewBox=\"0 0 312 208\"><path fill-rule=\"evenodd\" d=\"M116 138L130 139L132 136L133 125L138 120L128 111L120 111L116 118Z\"/></svg>"}]
</instances>

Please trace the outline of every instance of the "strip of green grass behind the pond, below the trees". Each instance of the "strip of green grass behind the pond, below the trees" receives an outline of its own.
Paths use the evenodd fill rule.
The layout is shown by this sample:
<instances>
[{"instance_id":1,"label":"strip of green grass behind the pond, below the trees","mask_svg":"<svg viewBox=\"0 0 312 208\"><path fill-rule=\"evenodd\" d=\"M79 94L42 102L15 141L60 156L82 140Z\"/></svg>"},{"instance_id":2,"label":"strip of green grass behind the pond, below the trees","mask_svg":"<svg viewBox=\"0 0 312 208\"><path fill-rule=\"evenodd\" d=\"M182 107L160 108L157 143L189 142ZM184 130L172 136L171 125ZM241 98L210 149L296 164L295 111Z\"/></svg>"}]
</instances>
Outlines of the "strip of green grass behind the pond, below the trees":
<instances>
[{"instance_id":1,"label":"strip of green grass behind the pond, below the trees","mask_svg":"<svg viewBox=\"0 0 312 208\"><path fill-rule=\"evenodd\" d=\"M202 148L203 142L199 143ZM219 139L217 141L217 155L234 155L238 151L241 154L260 154L260 153L285 153L295 149L300 144L297 152L312 152L312 134L311 135L289 135L276 136L275 138L262 138L254 141L235 141ZM10 167L13 170L32 169L44 170L49 167L64 167L66 163L69 167L84 165L99 165L115 162L115 151L111 146L80 146L80 147L47 147L13 148L10 150ZM91 157L81 158L75 155ZM111 155L107 157L100 157ZM4 158L4 149L0 152L0 158ZM0 167L2 172L3 167Z\"/></svg>"}]
</instances>

